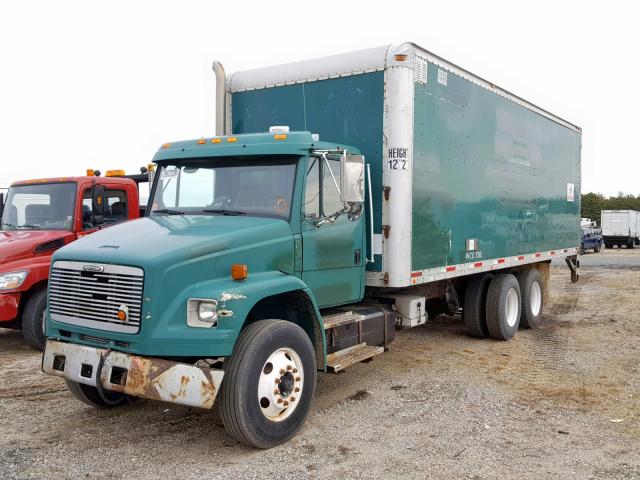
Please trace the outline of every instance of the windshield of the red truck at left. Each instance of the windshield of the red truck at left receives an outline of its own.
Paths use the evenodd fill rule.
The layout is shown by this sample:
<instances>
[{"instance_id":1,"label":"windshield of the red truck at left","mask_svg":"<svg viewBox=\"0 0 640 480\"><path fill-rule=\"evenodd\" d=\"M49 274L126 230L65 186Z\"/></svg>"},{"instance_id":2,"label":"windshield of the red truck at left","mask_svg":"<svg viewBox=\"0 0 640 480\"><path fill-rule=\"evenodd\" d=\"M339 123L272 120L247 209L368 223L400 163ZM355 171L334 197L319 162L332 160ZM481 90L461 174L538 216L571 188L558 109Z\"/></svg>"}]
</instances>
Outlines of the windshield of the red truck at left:
<instances>
[{"instance_id":1,"label":"windshield of the red truck at left","mask_svg":"<svg viewBox=\"0 0 640 480\"><path fill-rule=\"evenodd\" d=\"M40 183L11 187L2 213L2 230L70 230L76 185Z\"/></svg>"}]
</instances>

